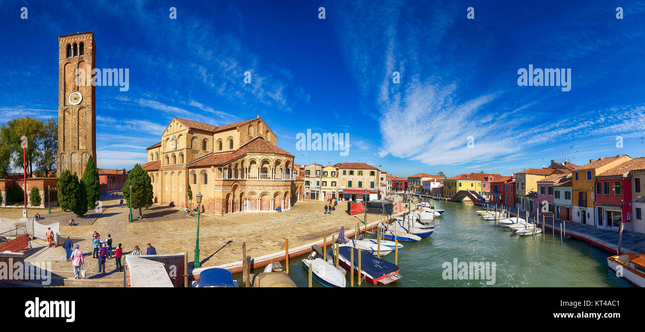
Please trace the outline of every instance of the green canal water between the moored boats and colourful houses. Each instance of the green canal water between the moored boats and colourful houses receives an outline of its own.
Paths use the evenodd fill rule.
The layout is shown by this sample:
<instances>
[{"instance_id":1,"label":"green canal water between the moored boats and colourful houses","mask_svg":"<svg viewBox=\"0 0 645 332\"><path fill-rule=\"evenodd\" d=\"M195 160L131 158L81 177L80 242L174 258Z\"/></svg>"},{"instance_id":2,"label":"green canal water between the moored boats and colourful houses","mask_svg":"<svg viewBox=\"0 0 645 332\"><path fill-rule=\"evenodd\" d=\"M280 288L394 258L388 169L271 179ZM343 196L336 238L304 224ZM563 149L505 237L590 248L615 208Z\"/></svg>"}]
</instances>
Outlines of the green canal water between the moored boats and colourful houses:
<instances>
[{"instance_id":1,"label":"green canal water between the moored boats and colourful houses","mask_svg":"<svg viewBox=\"0 0 645 332\"><path fill-rule=\"evenodd\" d=\"M542 234L519 237L479 217L475 211L480 207L471 202L429 201L446 211L435 217L435 232L430 237L402 242L404 248L398 257L401 280L387 286L362 282L361 287L631 287L607 267L610 254L586 242L570 239L561 244L559 234L553 237L548 230L544 239ZM301 262L304 258L290 259L290 277L298 287L308 284L308 273ZM382 258L394 262L394 252ZM494 284L490 284L491 269L488 280L459 280L459 273L452 279L444 278L449 277L446 269L455 271L455 259L458 264L495 262ZM235 278L241 284L241 274ZM356 282L354 276L354 287ZM312 284L323 287L315 280Z\"/></svg>"}]
</instances>

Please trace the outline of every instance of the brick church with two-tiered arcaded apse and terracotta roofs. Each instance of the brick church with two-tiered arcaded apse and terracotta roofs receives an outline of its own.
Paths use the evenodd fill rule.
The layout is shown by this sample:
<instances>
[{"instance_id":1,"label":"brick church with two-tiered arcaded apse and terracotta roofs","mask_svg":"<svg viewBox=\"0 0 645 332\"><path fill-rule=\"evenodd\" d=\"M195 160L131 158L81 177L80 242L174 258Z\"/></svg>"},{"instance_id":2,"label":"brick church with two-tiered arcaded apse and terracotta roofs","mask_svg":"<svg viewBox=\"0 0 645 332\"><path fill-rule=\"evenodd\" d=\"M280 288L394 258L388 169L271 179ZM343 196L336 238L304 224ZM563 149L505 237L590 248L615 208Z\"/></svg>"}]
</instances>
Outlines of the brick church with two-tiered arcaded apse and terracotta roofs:
<instances>
[{"instance_id":1,"label":"brick church with two-tiered arcaded apse and terracotta roofs","mask_svg":"<svg viewBox=\"0 0 645 332\"><path fill-rule=\"evenodd\" d=\"M175 117L161 142L146 149L142 167L156 203L195 208L201 193L208 213L288 210L302 199L303 183L295 179L293 155L276 141L260 117L225 126Z\"/></svg>"}]
</instances>

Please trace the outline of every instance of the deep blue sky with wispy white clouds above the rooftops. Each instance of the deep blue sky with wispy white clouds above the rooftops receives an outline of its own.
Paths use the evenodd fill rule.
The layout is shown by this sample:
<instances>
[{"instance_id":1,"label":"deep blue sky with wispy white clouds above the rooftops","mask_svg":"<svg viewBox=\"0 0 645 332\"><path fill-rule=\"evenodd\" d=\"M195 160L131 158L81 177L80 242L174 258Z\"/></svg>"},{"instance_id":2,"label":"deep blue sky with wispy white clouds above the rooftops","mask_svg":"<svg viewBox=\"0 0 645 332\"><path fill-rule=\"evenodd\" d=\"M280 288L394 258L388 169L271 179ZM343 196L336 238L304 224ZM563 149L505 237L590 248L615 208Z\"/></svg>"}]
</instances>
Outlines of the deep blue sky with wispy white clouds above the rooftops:
<instances>
[{"instance_id":1,"label":"deep blue sky with wispy white clouds above the rooftops","mask_svg":"<svg viewBox=\"0 0 645 332\"><path fill-rule=\"evenodd\" d=\"M57 36L93 31L97 68L130 69L127 92L96 88L101 168L145 162L172 117L258 114L298 164L399 176L641 156L643 1L112 2L3 2L0 122L56 117ZM570 68L571 90L519 86L529 64ZM349 133L350 153L296 150L307 129Z\"/></svg>"}]
</instances>

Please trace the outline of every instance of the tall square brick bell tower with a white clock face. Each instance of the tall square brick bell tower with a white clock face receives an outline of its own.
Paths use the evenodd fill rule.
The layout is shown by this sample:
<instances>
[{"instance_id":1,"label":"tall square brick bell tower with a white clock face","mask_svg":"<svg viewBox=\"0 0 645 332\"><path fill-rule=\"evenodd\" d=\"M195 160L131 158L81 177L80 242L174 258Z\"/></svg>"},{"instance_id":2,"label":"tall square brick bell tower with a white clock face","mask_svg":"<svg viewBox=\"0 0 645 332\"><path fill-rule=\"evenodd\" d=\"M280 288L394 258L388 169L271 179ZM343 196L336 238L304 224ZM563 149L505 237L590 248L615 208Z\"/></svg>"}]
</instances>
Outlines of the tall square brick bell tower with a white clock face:
<instances>
[{"instance_id":1,"label":"tall square brick bell tower with a white clock face","mask_svg":"<svg viewBox=\"0 0 645 332\"><path fill-rule=\"evenodd\" d=\"M95 55L93 32L58 37L59 177L65 170L83 177L89 157L96 164L96 88L87 79ZM77 69L84 75L78 77Z\"/></svg>"}]
</instances>

